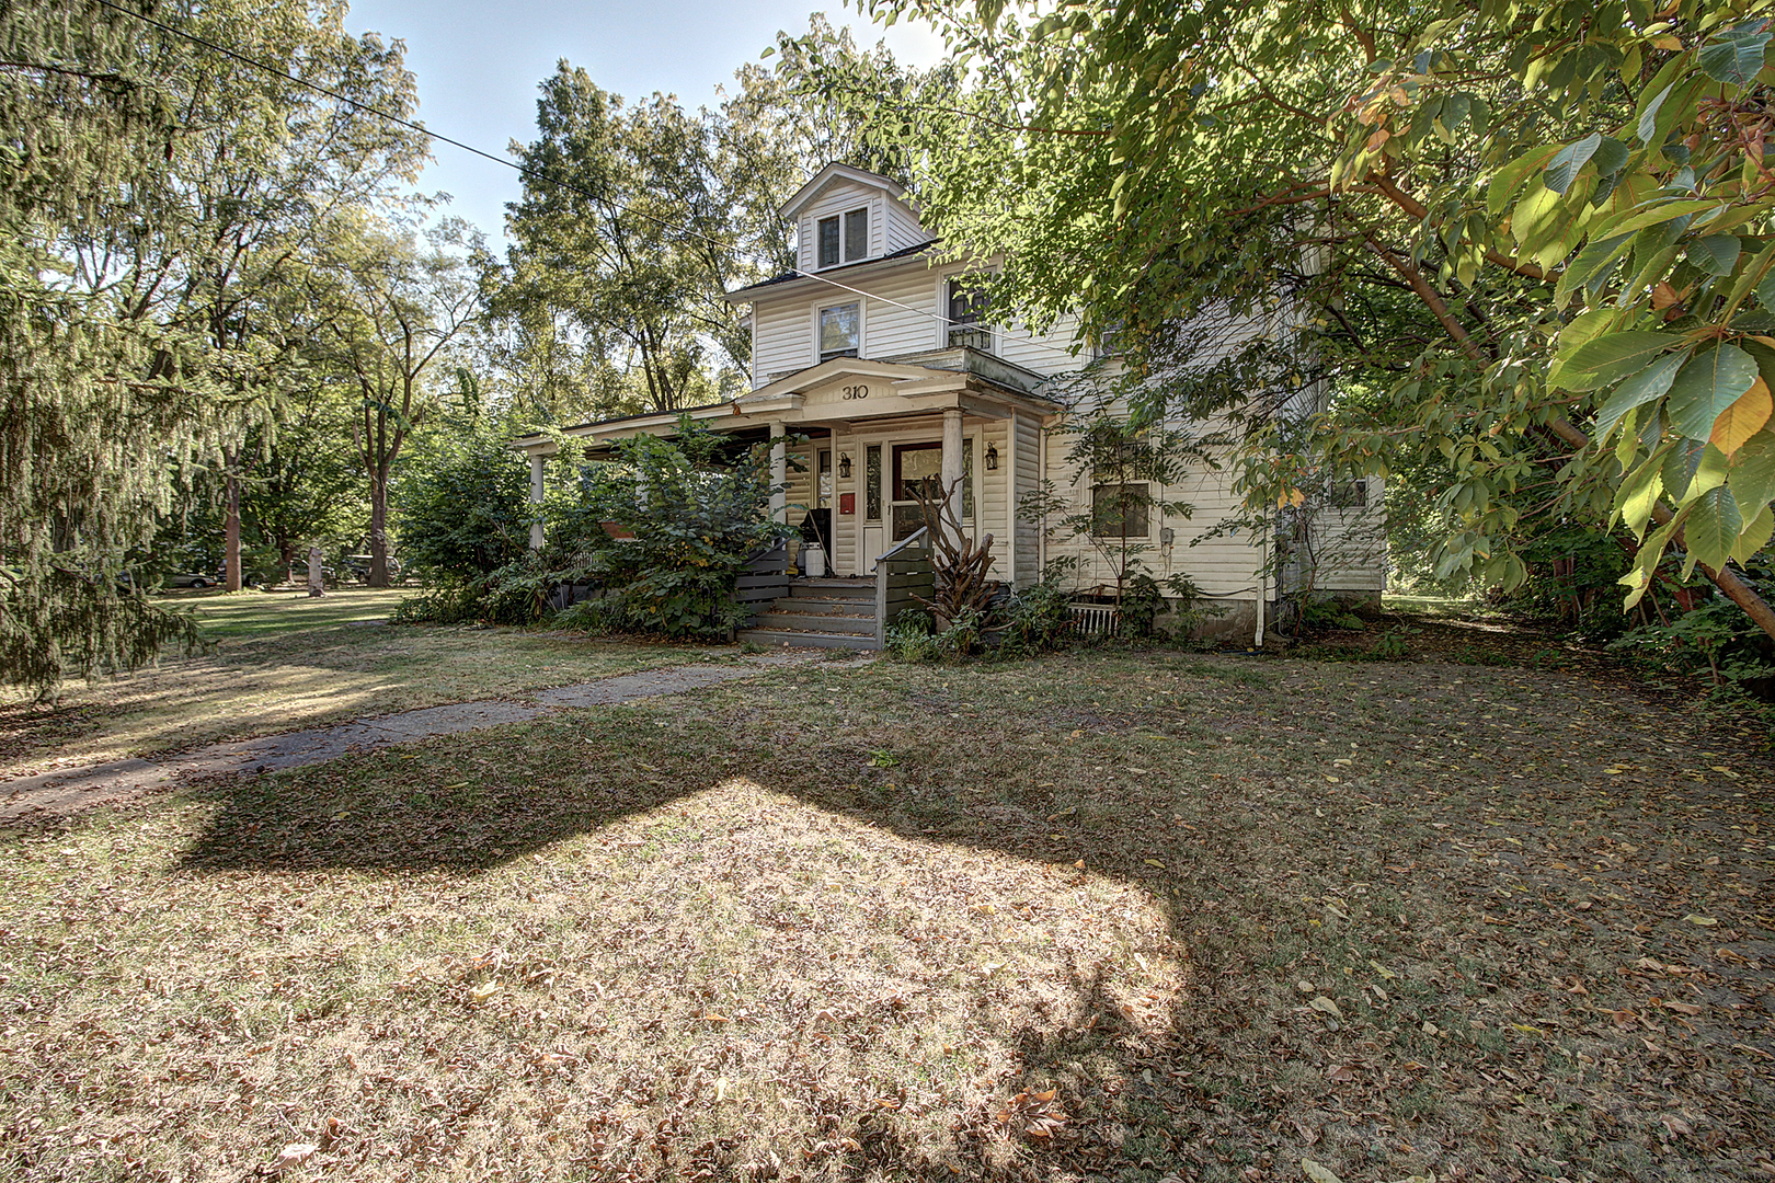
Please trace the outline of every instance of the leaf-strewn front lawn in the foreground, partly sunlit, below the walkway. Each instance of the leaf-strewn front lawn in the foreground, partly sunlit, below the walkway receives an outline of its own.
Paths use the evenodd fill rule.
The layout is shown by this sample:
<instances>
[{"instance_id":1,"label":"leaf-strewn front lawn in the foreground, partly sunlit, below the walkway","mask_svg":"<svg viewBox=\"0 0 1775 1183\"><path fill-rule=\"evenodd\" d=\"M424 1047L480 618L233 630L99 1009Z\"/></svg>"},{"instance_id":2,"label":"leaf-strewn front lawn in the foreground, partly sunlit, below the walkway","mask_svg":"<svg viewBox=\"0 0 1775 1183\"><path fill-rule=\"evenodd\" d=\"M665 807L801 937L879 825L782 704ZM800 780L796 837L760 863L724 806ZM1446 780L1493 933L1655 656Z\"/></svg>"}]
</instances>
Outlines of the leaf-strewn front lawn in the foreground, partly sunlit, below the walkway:
<instances>
[{"instance_id":1,"label":"leaf-strewn front lawn in the foreground, partly sunlit, below the walkway","mask_svg":"<svg viewBox=\"0 0 1775 1183\"><path fill-rule=\"evenodd\" d=\"M1768 1179L1750 748L1551 669L1077 654L190 786L5 839L0 1156Z\"/></svg>"}]
</instances>

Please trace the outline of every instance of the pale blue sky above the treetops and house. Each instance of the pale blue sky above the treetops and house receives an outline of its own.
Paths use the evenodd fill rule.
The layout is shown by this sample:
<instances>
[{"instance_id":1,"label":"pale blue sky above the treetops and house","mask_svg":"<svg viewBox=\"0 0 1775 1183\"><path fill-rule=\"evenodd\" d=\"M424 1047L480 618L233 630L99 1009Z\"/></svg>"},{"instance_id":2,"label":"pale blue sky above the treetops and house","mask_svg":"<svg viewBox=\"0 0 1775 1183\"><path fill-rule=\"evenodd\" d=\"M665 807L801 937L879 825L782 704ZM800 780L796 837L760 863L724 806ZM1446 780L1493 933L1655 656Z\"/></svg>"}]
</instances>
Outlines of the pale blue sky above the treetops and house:
<instances>
[{"instance_id":1,"label":"pale blue sky above the treetops and house","mask_svg":"<svg viewBox=\"0 0 1775 1183\"><path fill-rule=\"evenodd\" d=\"M816 0L355 0L346 28L406 43L406 67L419 80L426 128L488 153L536 129L536 85L566 59L605 90L637 99L664 90L687 110L714 106L715 87L756 62L777 30L801 34ZM859 44L886 39L895 57L930 66L943 41L923 25L872 25L856 9L825 7ZM490 243L504 241L506 202L520 177L449 144L433 144L419 188L446 192L442 213L467 218Z\"/></svg>"}]
</instances>

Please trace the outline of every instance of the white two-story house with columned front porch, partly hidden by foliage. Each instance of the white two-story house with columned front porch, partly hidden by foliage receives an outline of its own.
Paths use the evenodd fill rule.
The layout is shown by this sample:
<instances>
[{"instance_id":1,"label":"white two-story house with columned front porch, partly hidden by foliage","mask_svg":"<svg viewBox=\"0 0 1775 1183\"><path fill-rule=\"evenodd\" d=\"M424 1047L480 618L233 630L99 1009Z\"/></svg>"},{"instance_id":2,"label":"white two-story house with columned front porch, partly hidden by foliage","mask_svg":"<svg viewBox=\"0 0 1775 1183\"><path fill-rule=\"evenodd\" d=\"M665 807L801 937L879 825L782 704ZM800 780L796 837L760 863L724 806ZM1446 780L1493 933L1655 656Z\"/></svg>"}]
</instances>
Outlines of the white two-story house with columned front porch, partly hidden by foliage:
<instances>
[{"instance_id":1,"label":"white two-story house with columned front porch, partly hidden by foliage","mask_svg":"<svg viewBox=\"0 0 1775 1183\"><path fill-rule=\"evenodd\" d=\"M690 411L721 431L785 440L774 458L785 491L772 513L813 527L832 578L873 578L877 559L923 525L914 490L941 481L960 488L960 529L976 539L992 534L998 578L1024 587L1051 559L1076 553L1081 589L1113 582L1090 539L1049 536L1019 513L1044 482L1077 505L1099 495L1092 474L1067 465L1072 440L1060 431L1069 408L1054 380L1093 360L1074 348L1077 325L1063 319L1033 335L987 323L971 284L978 264L946 255L888 177L827 165L783 213L797 227L795 270L728 294L749 309L751 390ZM643 415L566 435L596 447L674 424L676 415ZM515 445L531 456L540 497L554 443L531 436ZM1152 491L1154 500L1189 502L1187 520L1154 509L1104 529L1145 544L1141 559L1156 576L1189 575L1221 601L1221 628L1258 633L1274 598L1264 576L1273 539L1203 539L1235 505L1227 484L1223 474L1202 472L1187 488ZM1331 589L1377 591L1379 571L1344 573L1344 587Z\"/></svg>"}]
</instances>

